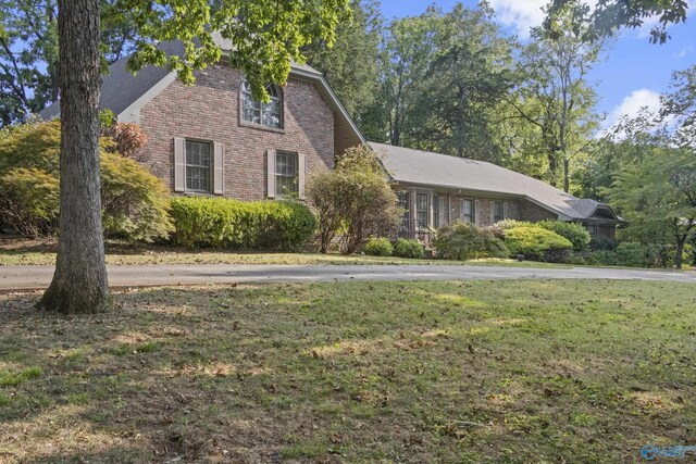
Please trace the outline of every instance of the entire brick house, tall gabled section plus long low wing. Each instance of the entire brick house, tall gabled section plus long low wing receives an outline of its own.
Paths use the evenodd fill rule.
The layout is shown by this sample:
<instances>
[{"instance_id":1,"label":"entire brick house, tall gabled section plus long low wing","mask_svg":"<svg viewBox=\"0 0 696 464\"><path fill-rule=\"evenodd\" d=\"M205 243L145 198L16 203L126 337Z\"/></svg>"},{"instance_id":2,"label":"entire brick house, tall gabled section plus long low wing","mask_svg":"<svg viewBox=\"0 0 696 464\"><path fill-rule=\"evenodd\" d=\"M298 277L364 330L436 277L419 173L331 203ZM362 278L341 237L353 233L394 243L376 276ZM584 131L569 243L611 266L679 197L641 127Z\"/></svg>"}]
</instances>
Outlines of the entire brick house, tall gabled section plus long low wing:
<instances>
[{"instance_id":1,"label":"entire brick house, tall gabled section plus long low wing","mask_svg":"<svg viewBox=\"0 0 696 464\"><path fill-rule=\"evenodd\" d=\"M303 198L307 179L334 167L347 148L368 143L324 76L293 64L285 86L270 84L270 103L256 101L245 76L224 59L229 42L214 39L223 60L195 72L186 86L176 74L149 66L137 75L126 59L111 66L101 108L119 122L134 122L148 136L138 161L175 195L210 195L240 200ZM182 46L160 48L181 54ZM40 115L59 113L55 102ZM371 145L406 209L405 235L456 220L482 226L501 218L579 221L595 235L613 237L620 222L609 206L568 193L488 163Z\"/></svg>"}]
</instances>

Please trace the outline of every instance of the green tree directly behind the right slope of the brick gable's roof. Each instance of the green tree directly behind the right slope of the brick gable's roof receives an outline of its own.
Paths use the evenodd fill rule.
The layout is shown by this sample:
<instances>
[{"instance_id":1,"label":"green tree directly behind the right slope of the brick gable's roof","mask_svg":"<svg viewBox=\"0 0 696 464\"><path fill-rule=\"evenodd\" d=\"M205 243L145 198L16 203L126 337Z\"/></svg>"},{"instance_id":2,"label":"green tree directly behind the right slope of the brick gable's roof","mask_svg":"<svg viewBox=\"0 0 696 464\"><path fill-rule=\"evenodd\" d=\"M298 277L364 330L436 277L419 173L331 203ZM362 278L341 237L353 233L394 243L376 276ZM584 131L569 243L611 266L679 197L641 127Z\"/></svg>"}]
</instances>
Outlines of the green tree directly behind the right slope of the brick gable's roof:
<instances>
[{"instance_id":1,"label":"green tree directly behind the right slope of the brick gable's roof","mask_svg":"<svg viewBox=\"0 0 696 464\"><path fill-rule=\"evenodd\" d=\"M376 0L352 0L352 22L336 27L333 48L315 39L303 48L307 63L324 74L348 110L360 120L375 99L382 14Z\"/></svg>"}]
</instances>

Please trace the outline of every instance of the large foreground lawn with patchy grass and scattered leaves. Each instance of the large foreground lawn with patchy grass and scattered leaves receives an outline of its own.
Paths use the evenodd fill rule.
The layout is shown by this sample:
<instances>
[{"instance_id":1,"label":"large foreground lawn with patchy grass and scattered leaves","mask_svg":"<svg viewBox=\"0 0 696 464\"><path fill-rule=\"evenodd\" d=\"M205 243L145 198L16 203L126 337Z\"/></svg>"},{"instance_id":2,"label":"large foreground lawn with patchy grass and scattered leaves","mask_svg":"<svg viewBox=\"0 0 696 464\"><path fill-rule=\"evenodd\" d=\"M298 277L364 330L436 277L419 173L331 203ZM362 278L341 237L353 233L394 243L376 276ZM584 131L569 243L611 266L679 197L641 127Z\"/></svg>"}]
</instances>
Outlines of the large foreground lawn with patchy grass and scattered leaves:
<instances>
[{"instance_id":1,"label":"large foreground lawn with patchy grass and scattered leaves","mask_svg":"<svg viewBox=\"0 0 696 464\"><path fill-rule=\"evenodd\" d=\"M4 294L0 462L641 462L696 444L695 289L162 288L71 318Z\"/></svg>"}]
</instances>

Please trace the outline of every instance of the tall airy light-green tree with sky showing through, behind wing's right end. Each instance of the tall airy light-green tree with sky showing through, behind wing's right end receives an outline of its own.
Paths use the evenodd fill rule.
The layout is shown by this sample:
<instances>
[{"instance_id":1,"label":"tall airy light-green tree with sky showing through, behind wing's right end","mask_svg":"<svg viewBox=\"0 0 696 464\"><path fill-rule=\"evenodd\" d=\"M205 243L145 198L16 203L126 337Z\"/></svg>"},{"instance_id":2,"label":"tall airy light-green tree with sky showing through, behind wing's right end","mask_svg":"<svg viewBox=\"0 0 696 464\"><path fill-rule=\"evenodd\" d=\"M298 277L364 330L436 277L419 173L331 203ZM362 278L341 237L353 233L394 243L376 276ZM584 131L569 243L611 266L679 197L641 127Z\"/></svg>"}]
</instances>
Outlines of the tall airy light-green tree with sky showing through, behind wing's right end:
<instances>
[{"instance_id":1,"label":"tall airy light-green tree with sky showing through, behind wing's right end","mask_svg":"<svg viewBox=\"0 0 696 464\"><path fill-rule=\"evenodd\" d=\"M535 128L511 135L510 148L544 153L546 180L562 186L564 191L570 190L571 166L582 159L599 121L594 111L596 93L586 76L598 60L601 43L589 43L582 33L573 32L571 25L582 21L574 14L571 7L558 12L557 21L568 26L558 37L550 37L540 27L532 30L533 40L519 62L524 84L509 101L518 123ZM518 137L515 141L520 134L534 138Z\"/></svg>"}]
</instances>

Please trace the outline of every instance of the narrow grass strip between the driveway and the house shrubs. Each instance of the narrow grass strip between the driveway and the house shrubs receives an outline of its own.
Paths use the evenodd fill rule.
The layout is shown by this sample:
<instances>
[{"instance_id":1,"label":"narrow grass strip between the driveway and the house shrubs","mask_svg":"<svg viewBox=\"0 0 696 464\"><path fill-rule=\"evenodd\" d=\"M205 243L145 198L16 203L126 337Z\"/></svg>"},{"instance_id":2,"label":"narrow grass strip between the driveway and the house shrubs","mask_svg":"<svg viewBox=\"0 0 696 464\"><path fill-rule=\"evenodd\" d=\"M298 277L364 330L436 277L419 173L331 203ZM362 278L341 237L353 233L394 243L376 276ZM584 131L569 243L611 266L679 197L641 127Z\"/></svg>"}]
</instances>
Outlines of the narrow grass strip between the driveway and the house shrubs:
<instances>
[{"instance_id":1,"label":"narrow grass strip between the driveway and the house shrubs","mask_svg":"<svg viewBox=\"0 0 696 464\"><path fill-rule=\"evenodd\" d=\"M55 264L55 240L3 239L0 237L0 266ZM186 250L167 246L107 242L108 264L476 264L515 267L568 267L562 264L514 260L410 260L365 255L321 253L238 253L214 250Z\"/></svg>"}]
</instances>

